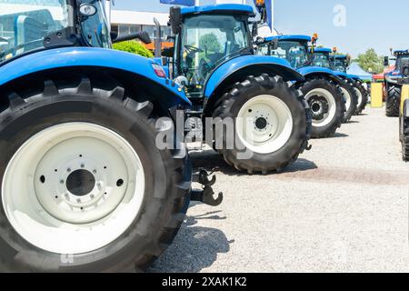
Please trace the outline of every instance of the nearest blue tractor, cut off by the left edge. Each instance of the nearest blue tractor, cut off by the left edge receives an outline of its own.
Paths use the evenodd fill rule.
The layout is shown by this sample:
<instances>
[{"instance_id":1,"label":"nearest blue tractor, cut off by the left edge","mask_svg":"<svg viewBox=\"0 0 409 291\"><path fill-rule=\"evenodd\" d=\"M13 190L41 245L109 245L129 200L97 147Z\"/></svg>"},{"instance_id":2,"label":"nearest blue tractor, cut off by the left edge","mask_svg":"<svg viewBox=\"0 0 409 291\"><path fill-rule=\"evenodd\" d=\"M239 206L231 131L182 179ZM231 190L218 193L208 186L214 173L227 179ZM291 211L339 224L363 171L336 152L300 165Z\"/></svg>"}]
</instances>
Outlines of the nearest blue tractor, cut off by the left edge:
<instances>
[{"instance_id":1,"label":"nearest blue tractor, cut off by the left edge","mask_svg":"<svg viewBox=\"0 0 409 291\"><path fill-rule=\"evenodd\" d=\"M153 60L110 50L104 2L0 3L0 269L144 270L173 241L192 191L185 145L162 147L182 88Z\"/></svg>"}]
</instances>

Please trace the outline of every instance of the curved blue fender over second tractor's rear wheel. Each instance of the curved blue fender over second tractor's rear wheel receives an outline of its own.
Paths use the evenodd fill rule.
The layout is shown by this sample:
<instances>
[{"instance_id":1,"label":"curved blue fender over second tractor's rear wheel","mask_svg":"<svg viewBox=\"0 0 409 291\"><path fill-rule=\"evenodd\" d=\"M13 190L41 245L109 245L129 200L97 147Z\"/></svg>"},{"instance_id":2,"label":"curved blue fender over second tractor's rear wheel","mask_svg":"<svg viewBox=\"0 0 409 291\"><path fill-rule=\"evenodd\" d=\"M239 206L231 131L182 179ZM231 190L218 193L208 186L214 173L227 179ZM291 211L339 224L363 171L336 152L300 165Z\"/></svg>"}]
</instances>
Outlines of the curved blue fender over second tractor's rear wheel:
<instances>
[{"instance_id":1,"label":"curved blue fender over second tractor's rear wheel","mask_svg":"<svg viewBox=\"0 0 409 291\"><path fill-rule=\"evenodd\" d=\"M205 98L211 98L217 88L237 82L241 76L263 73L281 75L285 81L302 81L303 75L294 71L286 60L268 55L242 55L214 70L205 83Z\"/></svg>"}]
</instances>

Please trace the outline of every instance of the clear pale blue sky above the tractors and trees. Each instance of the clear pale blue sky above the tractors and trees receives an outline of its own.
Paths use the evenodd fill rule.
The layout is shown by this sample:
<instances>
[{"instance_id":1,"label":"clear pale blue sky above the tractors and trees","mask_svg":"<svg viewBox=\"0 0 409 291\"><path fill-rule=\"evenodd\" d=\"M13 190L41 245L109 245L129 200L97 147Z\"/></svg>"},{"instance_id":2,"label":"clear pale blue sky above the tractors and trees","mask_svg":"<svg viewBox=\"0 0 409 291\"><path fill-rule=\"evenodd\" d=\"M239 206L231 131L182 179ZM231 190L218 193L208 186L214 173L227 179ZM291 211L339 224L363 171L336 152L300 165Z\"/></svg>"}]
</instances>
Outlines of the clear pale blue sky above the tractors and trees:
<instances>
[{"instance_id":1,"label":"clear pale blue sky above the tractors and trees","mask_svg":"<svg viewBox=\"0 0 409 291\"><path fill-rule=\"evenodd\" d=\"M247 0L249 4L253 0ZM202 0L203 5L214 0ZM344 26L335 26L334 7L342 5ZM344 8L343 8L344 7ZM399 7L399 8L395 8ZM167 12L159 0L115 0L115 9ZM275 28L283 34L319 34L319 44L336 45L357 56L373 47L378 54L389 48L409 48L409 1L407 0L275 0ZM338 12L341 10L338 10Z\"/></svg>"}]
</instances>

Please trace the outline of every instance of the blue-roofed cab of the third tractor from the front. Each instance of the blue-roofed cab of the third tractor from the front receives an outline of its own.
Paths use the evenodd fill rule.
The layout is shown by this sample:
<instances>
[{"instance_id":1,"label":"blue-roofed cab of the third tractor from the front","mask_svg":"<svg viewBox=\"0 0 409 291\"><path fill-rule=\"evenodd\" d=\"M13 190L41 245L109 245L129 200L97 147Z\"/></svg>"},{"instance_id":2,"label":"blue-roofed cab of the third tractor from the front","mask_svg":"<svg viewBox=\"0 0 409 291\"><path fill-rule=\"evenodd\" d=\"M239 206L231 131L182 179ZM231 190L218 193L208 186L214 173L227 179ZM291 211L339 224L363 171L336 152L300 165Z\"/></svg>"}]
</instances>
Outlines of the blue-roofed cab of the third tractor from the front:
<instances>
[{"instance_id":1,"label":"blue-roofed cab of the third tractor from the front","mask_svg":"<svg viewBox=\"0 0 409 291\"><path fill-rule=\"evenodd\" d=\"M299 69L310 65L307 35L276 35L264 38L258 46L259 55L272 55L287 60L292 67Z\"/></svg>"}]
</instances>

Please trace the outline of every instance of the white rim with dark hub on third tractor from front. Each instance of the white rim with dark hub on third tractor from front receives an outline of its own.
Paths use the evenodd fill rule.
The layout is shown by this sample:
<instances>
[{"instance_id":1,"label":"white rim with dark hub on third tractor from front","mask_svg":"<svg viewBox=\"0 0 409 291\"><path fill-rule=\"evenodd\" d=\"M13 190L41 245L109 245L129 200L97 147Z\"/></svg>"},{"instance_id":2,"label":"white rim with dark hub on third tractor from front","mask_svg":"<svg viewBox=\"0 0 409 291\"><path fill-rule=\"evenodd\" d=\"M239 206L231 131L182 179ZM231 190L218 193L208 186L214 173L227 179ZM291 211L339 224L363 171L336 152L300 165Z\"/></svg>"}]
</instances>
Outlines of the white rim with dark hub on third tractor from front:
<instances>
[{"instance_id":1,"label":"white rim with dark hub on third tractor from front","mask_svg":"<svg viewBox=\"0 0 409 291\"><path fill-rule=\"evenodd\" d=\"M314 115L314 127L323 127L333 121L336 114L336 103L331 92L324 88L315 88L305 95L305 99ZM328 108L324 109L324 106ZM320 117L317 117L317 115Z\"/></svg>"}]
</instances>

